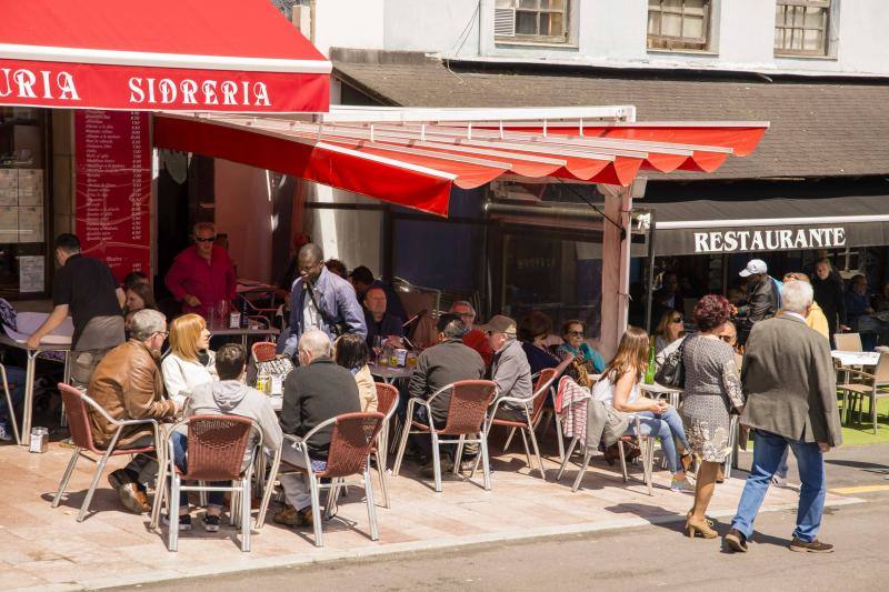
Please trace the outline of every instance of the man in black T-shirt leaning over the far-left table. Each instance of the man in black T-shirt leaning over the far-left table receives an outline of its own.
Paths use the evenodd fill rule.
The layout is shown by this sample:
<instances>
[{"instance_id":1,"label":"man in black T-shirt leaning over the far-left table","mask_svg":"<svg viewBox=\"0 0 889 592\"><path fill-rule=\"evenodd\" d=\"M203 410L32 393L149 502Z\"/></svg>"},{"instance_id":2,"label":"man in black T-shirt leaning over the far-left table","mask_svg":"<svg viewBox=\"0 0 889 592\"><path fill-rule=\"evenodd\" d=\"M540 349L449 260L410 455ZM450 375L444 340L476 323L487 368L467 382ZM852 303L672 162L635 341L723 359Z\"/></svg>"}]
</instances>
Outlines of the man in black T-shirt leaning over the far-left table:
<instances>
[{"instance_id":1,"label":"man in black T-shirt leaning over the far-left table","mask_svg":"<svg viewBox=\"0 0 889 592\"><path fill-rule=\"evenodd\" d=\"M74 323L71 381L86 387L104 354L126 341L123 291L103 261L80 253L73 234L56 238L56 260L61 269L52 282L52 312L28 338L28 347L36 349L70 314Z\"/></svg>"}]
</instances>

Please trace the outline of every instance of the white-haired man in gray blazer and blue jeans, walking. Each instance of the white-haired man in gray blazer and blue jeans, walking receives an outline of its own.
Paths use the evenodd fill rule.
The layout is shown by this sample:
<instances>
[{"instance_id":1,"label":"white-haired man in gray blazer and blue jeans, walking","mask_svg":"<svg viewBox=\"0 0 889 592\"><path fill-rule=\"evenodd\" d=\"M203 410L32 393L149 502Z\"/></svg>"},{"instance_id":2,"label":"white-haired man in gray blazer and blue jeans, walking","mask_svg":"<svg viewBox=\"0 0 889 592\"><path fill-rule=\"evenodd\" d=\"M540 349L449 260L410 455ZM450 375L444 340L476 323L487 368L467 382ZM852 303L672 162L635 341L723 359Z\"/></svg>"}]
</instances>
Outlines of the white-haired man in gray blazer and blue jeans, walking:
<instances>
[{"instance_id":1,"label":"white-haired man in gray blazer and blue jeans, walking","mask_svg":"<svg viewBox=\"0 0 889 592\"><path fill-rule=\"evenodd\" d=\"M830 345L806 325L812 288L786 284L783 313L750 331L741 382L747 404L741 424L753 431L753 465L738 512L726 535L731 551L747 551L753 520L787 446L799 464L802 485L791 551L829 553L816 539L825 509L827 482L822 454L842 441Z\"/></svg>"}]
</instances>

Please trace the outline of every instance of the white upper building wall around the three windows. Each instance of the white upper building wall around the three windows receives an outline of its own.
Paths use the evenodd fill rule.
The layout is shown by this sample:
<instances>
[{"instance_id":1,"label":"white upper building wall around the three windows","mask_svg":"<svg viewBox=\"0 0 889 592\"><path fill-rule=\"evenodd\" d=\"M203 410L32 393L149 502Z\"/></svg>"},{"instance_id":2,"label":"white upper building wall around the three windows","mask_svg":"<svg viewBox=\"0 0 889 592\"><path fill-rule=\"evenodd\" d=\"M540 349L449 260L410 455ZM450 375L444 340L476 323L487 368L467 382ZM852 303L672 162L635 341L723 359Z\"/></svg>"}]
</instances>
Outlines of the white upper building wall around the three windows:
<instances>
[{"instance_id":1,"label":"white upper building wall around the three windows","mask_svg":"<svg viewBox=\"0 0 889 592\"><path fill-rule=\"evenodd\" d=\"M495 0L317 0L317 42L322 51L348 47L455 57L460 47L461 58L889 76L889 2L833 1L839 43L832 58L775 58L775 0L716 0L710 52L648 51L648 0L573 0L578 30L563 47L495 43Z\"/></svg>"}]
</instances>

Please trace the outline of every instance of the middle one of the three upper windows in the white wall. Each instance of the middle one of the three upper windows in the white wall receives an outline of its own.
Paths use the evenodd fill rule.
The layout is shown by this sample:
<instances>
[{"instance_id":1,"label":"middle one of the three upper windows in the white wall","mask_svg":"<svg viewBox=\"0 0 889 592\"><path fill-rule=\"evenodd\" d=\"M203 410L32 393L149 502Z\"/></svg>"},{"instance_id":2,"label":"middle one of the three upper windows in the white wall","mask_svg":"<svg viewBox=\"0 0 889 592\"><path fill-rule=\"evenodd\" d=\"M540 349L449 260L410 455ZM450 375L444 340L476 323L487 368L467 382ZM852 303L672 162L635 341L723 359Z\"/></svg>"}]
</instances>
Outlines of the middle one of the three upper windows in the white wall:
<instances>
[{"instance_id":1,"label":"middle one of the three upper windows in the white wall","mask_svg":"<svg viewBox=\"0 0 889 592\"><path fill-rule=\"evenodd\" d=\"M648 48L707 50L710 0L648 0Z\"/></svg>"}]
</instances>

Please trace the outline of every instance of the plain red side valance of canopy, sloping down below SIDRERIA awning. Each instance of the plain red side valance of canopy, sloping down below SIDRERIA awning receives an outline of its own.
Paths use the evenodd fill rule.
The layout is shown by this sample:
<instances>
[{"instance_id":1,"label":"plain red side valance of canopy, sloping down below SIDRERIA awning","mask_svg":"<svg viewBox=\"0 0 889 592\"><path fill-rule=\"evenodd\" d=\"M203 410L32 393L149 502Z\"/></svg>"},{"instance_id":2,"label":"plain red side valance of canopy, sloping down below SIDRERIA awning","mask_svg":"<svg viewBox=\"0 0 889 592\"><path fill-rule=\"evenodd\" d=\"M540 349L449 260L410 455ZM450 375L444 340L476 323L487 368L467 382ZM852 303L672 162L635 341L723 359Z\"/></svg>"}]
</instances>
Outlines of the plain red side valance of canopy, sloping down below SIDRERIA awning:
<instances>
[{"instance_id":1,"label":"plain red side valance of canopy, sloping down below SIDRERIA awning","mask_svg":"<svg viewBox=\"0 0 889 592\"><path fill-rule=\"evenodd\" d=\"M453 175L369 159L331 144L303 143L259 130L156 116L157 148L197 152L270 169L369 198L448 215Z\"/></svg>"}]
</instances>

